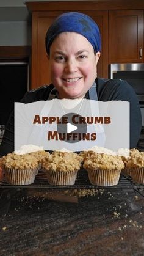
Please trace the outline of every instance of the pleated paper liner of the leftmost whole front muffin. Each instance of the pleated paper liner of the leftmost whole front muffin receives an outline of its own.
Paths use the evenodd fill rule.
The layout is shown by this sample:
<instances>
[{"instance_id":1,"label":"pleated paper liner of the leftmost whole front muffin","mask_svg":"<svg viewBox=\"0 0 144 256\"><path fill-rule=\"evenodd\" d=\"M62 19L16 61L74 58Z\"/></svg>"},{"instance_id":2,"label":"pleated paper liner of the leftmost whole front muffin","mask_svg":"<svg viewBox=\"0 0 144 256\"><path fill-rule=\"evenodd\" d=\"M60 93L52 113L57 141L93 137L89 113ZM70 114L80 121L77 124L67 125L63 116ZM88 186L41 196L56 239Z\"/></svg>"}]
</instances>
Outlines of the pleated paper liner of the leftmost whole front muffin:
<instances>
[{"instance_id":1,"label":"pleated paper liner of the leftmost whole front muffin","mask_svg":"<svg viewBox=\"0 0 144 256\"><path fill-rule=\"evenodd\" d=\"M34 183L37 168L35 169L12 169L5 168L5 180L12 185L29 185Z\"/></svg>"}]
</instances>

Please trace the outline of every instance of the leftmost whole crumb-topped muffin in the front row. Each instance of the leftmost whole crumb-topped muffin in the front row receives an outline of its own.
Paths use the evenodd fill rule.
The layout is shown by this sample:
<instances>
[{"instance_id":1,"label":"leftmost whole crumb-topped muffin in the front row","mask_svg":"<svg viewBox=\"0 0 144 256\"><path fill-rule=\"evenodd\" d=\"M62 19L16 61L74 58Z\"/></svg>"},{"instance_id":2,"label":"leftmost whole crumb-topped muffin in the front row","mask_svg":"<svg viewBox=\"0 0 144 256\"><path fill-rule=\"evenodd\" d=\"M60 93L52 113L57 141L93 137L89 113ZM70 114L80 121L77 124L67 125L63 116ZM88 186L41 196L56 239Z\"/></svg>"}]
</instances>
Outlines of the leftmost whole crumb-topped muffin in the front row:
<instances>
[{"instance_id":1,"label":"leftmost whole crumb-topped muffin in the front row","mask_svg":"<svg viewBox=\"0 0 144 256\"><path fill-rule=\"evenodd\" d=\"M34 183L38 169L38 161L34 156L9 153L5 156L3 164L7 183L12 185L29 185Z\"/></svg>"}]
</instances>

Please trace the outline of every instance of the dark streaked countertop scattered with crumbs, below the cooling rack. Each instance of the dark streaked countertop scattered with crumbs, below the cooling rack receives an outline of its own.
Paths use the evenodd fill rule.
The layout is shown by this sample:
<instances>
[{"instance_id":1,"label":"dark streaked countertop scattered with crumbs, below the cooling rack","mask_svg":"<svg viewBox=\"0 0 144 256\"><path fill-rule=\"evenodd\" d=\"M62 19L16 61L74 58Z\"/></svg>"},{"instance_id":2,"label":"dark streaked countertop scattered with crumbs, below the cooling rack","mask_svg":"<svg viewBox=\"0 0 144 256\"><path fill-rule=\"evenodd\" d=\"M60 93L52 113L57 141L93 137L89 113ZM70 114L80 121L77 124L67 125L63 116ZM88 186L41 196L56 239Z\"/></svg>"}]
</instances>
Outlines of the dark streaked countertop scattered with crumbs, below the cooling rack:
<instances>
[{"instance_id":1,"label":"dark streaked countertop scattered with crumbs, below the cooling rack","mask_svg":"<svg viewBox=\"0 0 144 256\"><path fill-rule=\"evenodd\" d=\"M37 190L34 196L31 188L11 194L1 208L0 255L143 255L139 192L106 188L76 202L69 194L61 198L65 202L40 197Z\"/></svg>"}]
</instances>

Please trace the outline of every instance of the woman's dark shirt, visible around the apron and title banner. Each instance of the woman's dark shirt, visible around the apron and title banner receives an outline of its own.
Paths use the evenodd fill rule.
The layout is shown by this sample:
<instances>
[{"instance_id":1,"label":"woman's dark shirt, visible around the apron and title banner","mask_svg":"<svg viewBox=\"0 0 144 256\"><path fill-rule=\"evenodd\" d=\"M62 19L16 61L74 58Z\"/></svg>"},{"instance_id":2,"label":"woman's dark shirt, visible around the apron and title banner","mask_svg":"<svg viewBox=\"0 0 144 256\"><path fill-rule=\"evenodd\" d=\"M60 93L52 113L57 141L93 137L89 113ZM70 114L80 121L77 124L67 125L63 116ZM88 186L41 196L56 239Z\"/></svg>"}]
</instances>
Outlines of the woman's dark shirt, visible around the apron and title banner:
<instances>
[{"instance_id":1,"label":"woman's dark shirt, visible around the apron and title banner","mask_svg":"<svg viewBox=\"0 0 144 256\"><path fill-rule=\"evenodd\" d=\"M99 101L122 100L130 103L130 148L137 146L142 119L139 101L134 89L126 81L120 79L96 79L96 91ZM22 98L22 103L32 103L40 100L48 100L49 93L54 86L43 86L27 92ZM89 98L88 92L85 98ZM4 137L0 146L0 156L14 151L14 113L9 117L5 127Z\"/></svg>"}]
</instances>

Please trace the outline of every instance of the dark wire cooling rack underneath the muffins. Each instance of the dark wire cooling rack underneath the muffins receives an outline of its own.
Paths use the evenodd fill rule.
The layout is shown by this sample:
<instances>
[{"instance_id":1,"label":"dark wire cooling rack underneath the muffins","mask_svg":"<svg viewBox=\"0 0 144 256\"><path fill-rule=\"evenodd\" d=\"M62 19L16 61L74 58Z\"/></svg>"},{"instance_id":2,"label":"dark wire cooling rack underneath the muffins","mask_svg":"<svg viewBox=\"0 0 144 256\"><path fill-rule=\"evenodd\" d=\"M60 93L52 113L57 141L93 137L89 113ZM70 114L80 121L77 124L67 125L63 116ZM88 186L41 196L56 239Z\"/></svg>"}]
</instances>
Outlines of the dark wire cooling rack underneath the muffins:
<instances>
[{"instance_id":1,"label":"dark wire cooling rack underneath the muffins","mask_svg":"<svg viewBox=\"0 0 144 256\"><path fill-rule=\"evenodd\" d=\"M76 182L73 186L53 186L48 183L45 170L41 169L35 177L34 183L31 185L10 185L5 181L0 181L0 188L48 188L48 189L93 189L93 188L121 188L121 189L139 189L144 190L144 184L134 183L131 177L120 175L118 185L115 186L96 186L92 185L88 179L87 171L79 170Z\"/></svg>"}]
</instances>

